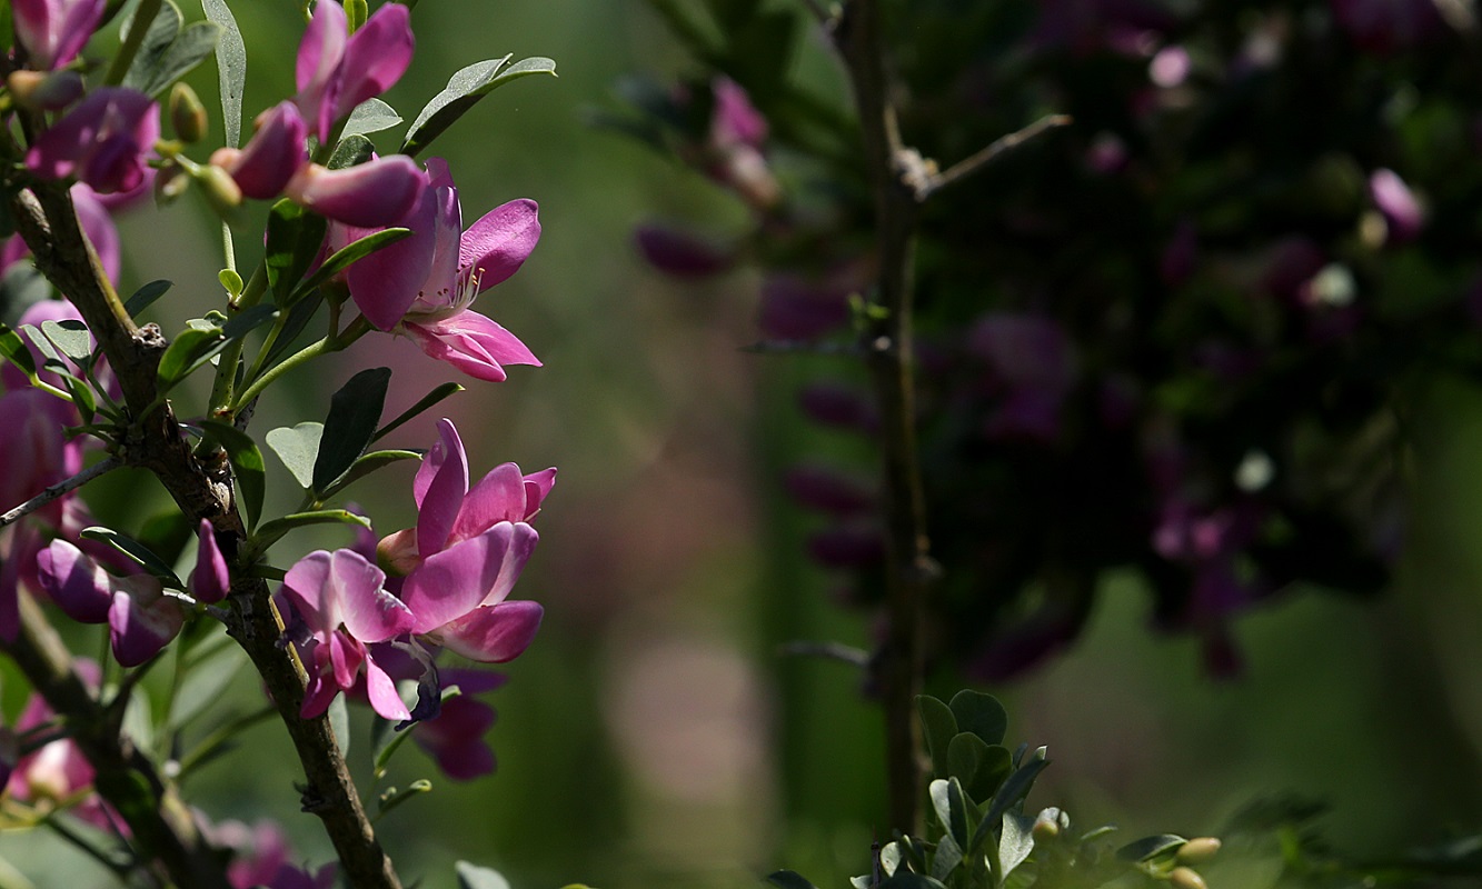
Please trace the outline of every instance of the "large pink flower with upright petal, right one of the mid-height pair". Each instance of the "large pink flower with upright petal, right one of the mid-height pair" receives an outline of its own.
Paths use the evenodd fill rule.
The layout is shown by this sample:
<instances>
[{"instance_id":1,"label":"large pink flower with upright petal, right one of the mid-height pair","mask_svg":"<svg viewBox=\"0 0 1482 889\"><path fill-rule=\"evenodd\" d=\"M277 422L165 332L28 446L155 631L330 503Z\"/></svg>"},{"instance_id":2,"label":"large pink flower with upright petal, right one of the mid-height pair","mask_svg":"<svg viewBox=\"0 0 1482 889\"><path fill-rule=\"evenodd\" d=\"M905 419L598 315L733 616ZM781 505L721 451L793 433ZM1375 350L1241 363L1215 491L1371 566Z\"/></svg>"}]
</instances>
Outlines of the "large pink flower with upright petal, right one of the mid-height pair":
<instances>
[{"instance_id":1,"label":"large pink flower with upright petal, right one of the mid-height pair","mask_svg":"<svg viewBox=\"0 0 1482 889\"><path fill-rule=\"evenodd\" d=\"M529 522L556 470L522 476L502 464L470 489L458 430L440 419L437 431L412 486L416 527L381 541L381 559L409 567L400 596L415 615L413 633L473 661L510 661L529 646L544 613L534 602L505 599L539 541Z\"/></svg>"}]
</instances>

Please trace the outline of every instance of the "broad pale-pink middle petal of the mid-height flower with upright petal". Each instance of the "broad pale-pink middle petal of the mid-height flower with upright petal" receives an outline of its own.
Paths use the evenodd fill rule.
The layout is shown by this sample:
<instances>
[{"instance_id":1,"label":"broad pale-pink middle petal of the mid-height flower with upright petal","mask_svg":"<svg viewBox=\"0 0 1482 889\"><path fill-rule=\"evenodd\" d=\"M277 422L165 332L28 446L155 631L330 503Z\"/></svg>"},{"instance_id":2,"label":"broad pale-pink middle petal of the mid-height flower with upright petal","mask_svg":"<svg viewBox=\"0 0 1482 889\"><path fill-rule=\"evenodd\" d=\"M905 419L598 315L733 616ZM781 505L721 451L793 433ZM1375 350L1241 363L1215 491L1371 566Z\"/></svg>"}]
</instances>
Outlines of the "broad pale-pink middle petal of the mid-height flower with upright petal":
<instances>
[{"instance_id":1,"label":"broad pale-pink middle petal of the mid-height flower with upright petal","mask_svg":"<svg viewBox=\"0 0 1482 889\"><path fill-rule=\"evenodd\" d=\"M538 541L529 525L501 522L427 557L402 587L402 600L416 615L412 631L431 633L480 605L501 602Z\"/></svg>"}]
</instances>

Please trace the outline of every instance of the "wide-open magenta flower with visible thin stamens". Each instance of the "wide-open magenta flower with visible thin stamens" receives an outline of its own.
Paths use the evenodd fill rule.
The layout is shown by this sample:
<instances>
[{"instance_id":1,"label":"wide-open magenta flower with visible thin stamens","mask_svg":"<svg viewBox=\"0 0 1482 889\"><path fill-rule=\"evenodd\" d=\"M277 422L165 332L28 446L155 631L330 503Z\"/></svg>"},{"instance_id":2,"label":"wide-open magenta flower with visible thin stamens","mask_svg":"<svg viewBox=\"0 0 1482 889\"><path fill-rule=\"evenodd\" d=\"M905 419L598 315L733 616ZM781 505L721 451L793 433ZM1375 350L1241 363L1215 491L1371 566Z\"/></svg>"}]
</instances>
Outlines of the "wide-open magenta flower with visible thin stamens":
<instances>
[{"instance_id":1,"label":"wide-open magenta flower with visible thin stamens","mask_svg":"<svg viewBox=\"0 0 1482 889\"><path fill-rule=\"evenodd\" d=\"M519 338L468 310L535 249L541 237L535 202L513 200L462 231L458 188L442 159L427 162L427 185L400 222L413 234L350 267L356 305L378 329L400 329L428 356L477 379L502 381L504 364L539 366ZM330 246L366 234L336 227Z\"/></svg>"}]
</instances>

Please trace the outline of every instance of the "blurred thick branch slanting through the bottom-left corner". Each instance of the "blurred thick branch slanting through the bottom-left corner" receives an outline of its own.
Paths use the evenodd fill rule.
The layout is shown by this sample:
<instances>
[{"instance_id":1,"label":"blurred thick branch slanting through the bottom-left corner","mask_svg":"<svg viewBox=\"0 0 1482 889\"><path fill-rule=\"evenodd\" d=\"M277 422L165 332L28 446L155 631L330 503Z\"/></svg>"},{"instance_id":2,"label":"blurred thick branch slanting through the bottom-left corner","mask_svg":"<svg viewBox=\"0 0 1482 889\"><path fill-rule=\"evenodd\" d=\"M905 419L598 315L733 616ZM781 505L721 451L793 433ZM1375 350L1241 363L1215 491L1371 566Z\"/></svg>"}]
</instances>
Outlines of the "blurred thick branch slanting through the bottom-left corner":
<instances>
[{"instance_id":1,"label":"blurred thick branch slanting through the bottom-left corner","mask_svg":"<svg viewBox=\"0 0 1482 889\"><path fill-rule=\"evenodd\" d=\"M176 886L230 889L221 855L200 836L190 809L119 730L123 702L102 707L73 670L71 653L30 597L21 596L21 633L7 646L21 673L52 710L96 772L93 787L129 825L133 845L157 861Z\"/></svg>"}]
</instances>

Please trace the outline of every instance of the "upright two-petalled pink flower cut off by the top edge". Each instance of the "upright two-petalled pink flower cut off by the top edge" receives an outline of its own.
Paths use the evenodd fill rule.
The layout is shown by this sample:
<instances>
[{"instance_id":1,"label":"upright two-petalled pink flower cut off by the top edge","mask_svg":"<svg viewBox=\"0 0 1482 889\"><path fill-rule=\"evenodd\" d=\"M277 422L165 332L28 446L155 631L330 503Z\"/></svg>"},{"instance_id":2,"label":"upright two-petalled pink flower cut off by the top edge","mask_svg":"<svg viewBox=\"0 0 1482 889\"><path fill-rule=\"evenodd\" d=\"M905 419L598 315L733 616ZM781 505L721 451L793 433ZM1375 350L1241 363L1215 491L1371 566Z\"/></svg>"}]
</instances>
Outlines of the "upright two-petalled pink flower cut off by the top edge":
<instances>
[{"instance_id":1,"label":"upright two-petalled pink flower cut off by the top edge","mask_svg":"<svg viewBox=\"0 0 1482 889\"><path fill-rule=\"evenodd\" d=\"M338 3L316 3L298 44L298 102L319 141L360 102L388 90L412 62L411 12L385 3L353 36Z\"/></svg>"}]
</instances>

